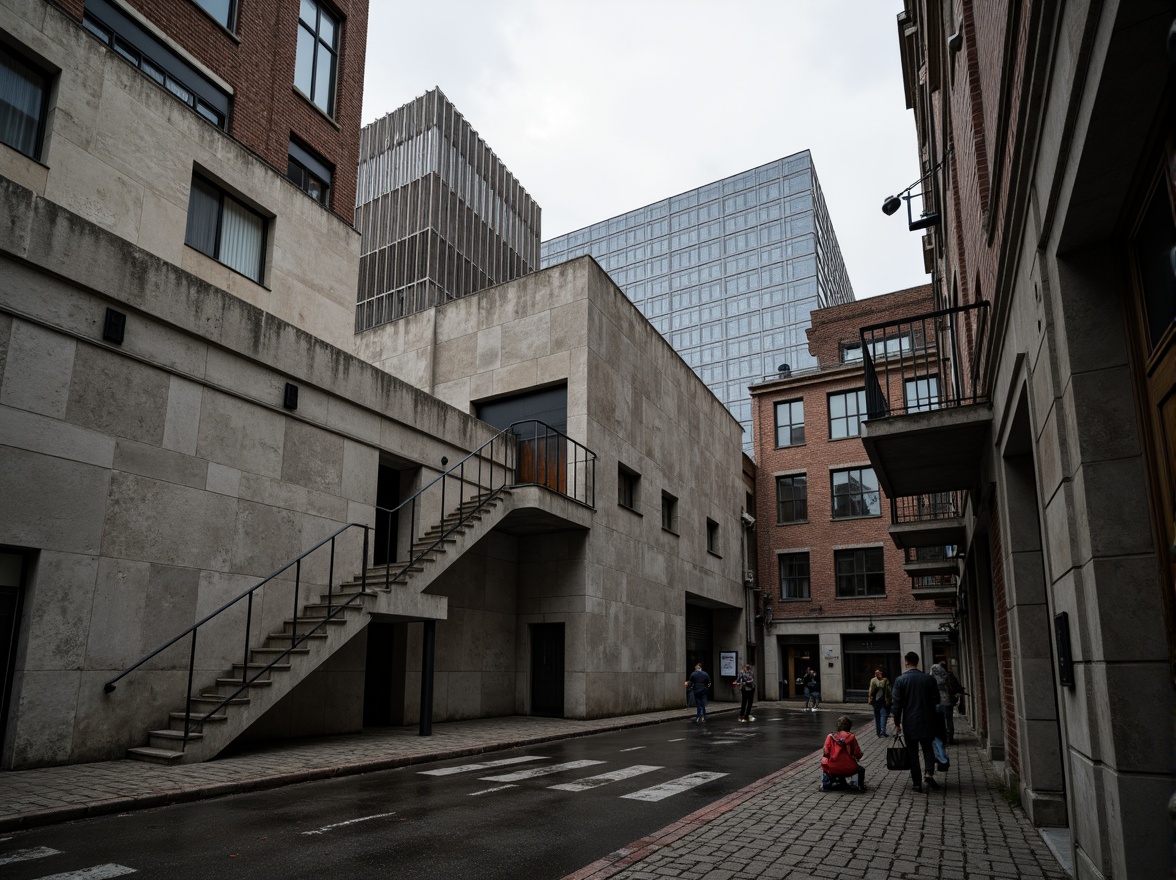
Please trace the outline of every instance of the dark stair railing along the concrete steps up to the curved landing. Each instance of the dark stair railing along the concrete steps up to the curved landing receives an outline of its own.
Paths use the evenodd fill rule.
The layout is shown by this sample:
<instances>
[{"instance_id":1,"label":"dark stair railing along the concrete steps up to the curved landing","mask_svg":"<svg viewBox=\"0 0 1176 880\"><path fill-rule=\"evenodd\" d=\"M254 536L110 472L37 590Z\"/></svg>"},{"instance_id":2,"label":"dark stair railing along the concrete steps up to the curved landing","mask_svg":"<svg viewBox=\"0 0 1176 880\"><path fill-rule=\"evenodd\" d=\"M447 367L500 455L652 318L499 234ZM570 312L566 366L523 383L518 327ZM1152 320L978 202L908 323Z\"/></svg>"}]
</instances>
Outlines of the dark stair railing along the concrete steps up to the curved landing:
<instances>
[{"instance_id":1,"label":"dark stair railing along the concrete steps up to the curved landing","mask_svg":"<svg viewBox=\"0 0 1176 880\"><path fill-rule=\"evenodd\" d=\"M528 453L528 451L530 451ZM526 458L532 454L532 459L528 461L534 461L534 466L523 465L520 469L520 455ZM495 458L497 455L499 458ZM587 449L587 447L572 440L566 434L552 428L548 425L535 420L527 420L522 422L515 422L510 427L500 431L493 438L483 442L476 449L470 452L468 455L462 458L459 462L453 465L449 469L441 473L439 476L430 480L428 484L422 486L412 496L402 501L394 508L376 508L382 511L388 516L388 534L386 535L386 547L385 547L385 559L389 560L385 571L385 587L390 588L392 582L399 580L400 576L405 575L410 568L417 565L425 556L435 551L445 540L450 538L456 531L462 528L467 522L469 522L475 516L480 515L486 507L506 492L513 485L528 485L539 484L553 488L567 494L574 501L584 504L587 506L594 506L595 504L595 462L596 454ZM573 482L569 487L567 485L567 473L568 466L572 466ZM528 469L530 467L530 469ZM562 473L562 476L560 474ZM452 482L456 482L456 489L449 488ZM554 481L554 482L553 482ZM422 544L421 547L416 547L416 528L419 514L427 509L425 505L426 493L434 491L434 494L440 495L437 507L435 508L439 514L437 534L432 538L427 544ZM456 491L456 504L454 505L454 494ZM448 498L447 498L448 495ZM409 513L409 554L408 559L402 562L392 562L387 555L390 552L392 546L392 529L395 528L395 524L399 520L400 514L402 514L406 508ZM362 529L363 541L362 541L362 556L360 565L360 591L353 593L346 601L339 601L342 594L339 594L336 599L335 594L335 548L339 539L350 532L352 529ZM369 534L370 533L370 534ZM229 705L233 700L245 693L249 687L252 687L262 676L268 674L278 664L286 660L294 651L302 646L308 639L315 635L319 631L323 629L330 620L343 613L346 608L363 599L368 594L368 559L369 559L369 545L372 542L372 536L374 534L374 527L368 526L362 522L348 522L341 528L336 529L334 533L323 538L316 545L307 551L303 551L294 559L292 559L286 565L281 566L279 569L267 575L265 579L259 581L256 585L245 591L240 595L230 599L229 601L221 605L215 611L201 618L199 621L189 626L183 632L168 639L166 642L160 645L154 651L145 654L139 660L133 662L131 666L122 669L118 675L108 680L102 689L105 693L113 693L116 684L141 667L147 661L158 656L162 652L167 651L172 646L182 641L185 638L191 639L191 646L188 651L188 669L187 669L187 699L185 701L183 711L183 738L181 744L181 749L187 747L188 739L193 733L194 727L203 727L203 725ZM307 615L300 614L300 593L302 584L302 562L309 559L316 552L329 548L329 561L328 561L328 575L327 575L327 613L325 616L309 618ZM392 571L394 567L399 567L395 576L392 576ZM253 604L254 596L258 592L265 587L267 584L274 581L280 575L286 572L294 569L294 616L290 627L290 645L280 654L274 656L268 664L260 666L258 664L250 664L250 645L249 635L253 624ZM318 587L321 588L321 585ZM233 693L225 696L220 702L213 706L207 712L202 713L199 718L193 718L192 713L192 682L195 674L195 659L196 659L196 636L200 628L211 621L220 618L221 614L227 612L229 608L236 607L239 602L246 602L246 624L245 624L245 648L241 659L241 684L236 687ZM299 624L302 620L316 620L318 624L307 629L303 633L299 633ZM256 672L250 676L249 669L256 668Z\"/></svg>"}]
</instances>

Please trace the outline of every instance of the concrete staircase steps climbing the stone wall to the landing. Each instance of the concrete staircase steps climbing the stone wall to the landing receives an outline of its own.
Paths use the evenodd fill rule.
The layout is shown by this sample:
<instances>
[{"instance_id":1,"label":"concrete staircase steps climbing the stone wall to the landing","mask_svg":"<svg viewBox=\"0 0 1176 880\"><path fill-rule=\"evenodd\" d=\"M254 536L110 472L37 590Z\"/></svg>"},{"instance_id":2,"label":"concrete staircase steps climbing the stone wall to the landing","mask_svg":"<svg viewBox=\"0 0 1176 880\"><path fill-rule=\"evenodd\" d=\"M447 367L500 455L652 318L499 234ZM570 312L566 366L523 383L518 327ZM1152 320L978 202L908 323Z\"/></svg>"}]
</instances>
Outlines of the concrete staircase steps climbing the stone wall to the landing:
<instances>
[{"instance_id":1,"label":"concrete staircase steps climbing the stone wall to the landing","mask_svg":"<svg viewBox=\"0 0 1176 880\"><path fill-rule=\"evenodd\" d=\"M127 756L154 764L198 764L216 756L250 724L358 635L373 613L401 619L442 620L445 596L429 595L428 586L466 551L483 538L513 507L510 489L466 501L412 546L409 561L367 569L329 595L310 598L298 621L287 619L249 651L248 668L236 662L192 696L185 742L185 712L172 712L167 727L149 732L146 746ZM296 646L292 647L296 641ZM278 659L278 662L273 662ZM248 679L265 669L254 681ZM242 681L247 682L242 688ZM240 692L240 693L238 693ZM234 695L235 694L235 695ZM226 698L228 699L226 702ZM209 714L212 713L212 714Z\"/></svg>"}]
</instances>

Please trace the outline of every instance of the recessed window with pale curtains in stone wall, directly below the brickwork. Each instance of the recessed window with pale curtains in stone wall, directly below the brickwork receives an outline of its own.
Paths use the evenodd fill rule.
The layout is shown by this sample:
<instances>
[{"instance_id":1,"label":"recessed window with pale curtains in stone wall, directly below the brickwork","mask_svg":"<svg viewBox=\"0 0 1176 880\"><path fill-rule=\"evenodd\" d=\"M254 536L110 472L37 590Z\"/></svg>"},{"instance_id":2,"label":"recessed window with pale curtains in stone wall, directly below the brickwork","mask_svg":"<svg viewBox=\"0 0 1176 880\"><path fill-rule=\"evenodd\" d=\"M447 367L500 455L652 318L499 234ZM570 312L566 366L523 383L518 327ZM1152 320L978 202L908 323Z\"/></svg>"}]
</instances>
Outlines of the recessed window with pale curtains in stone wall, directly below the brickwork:
<instances>
[{"instance_id":1,"label":"recessed window with pale curtains in stone wall, directly below the brickwork","mask_svg":"<svg viewBox=\"0 0 1176 880\"><path fill-rule=\"evenodd\" d=\"M203 178L192 179L185 242L261 284L266 220Z\"/></svg>"}]
</instances>

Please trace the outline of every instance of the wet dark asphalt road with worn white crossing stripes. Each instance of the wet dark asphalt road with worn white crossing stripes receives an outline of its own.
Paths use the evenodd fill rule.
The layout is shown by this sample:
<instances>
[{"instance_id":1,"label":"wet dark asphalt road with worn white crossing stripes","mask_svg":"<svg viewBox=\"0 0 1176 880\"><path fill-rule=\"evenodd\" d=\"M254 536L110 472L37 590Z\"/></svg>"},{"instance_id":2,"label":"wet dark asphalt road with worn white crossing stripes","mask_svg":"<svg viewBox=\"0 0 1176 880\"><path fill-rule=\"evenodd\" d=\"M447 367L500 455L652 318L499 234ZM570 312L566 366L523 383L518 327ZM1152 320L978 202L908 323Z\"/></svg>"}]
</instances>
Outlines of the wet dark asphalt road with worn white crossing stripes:
<instances>
[{"instance_id":1,"label":"wet dark asphalt road with worn white crossing stripes","mask_svg":"<svg viewBox=\"0 0 1176 880\"><path fill-rule=\"evenodd\" d=\"M167 880L554 880L820 748L836 713L766 709L753 724L686 718L13 833L0 839L0 875L89 869L75 876L101 880L121 867ZM864 715L854 721L855 731L868 728ZM814 762L814 785L817 773ZM711 775L700 782L696 774ZM676 791L675 782L695 785ZM550 787L569 785L577 791ZM5 864L15 852L40 858Z\"/></svg>"}]
</instances>

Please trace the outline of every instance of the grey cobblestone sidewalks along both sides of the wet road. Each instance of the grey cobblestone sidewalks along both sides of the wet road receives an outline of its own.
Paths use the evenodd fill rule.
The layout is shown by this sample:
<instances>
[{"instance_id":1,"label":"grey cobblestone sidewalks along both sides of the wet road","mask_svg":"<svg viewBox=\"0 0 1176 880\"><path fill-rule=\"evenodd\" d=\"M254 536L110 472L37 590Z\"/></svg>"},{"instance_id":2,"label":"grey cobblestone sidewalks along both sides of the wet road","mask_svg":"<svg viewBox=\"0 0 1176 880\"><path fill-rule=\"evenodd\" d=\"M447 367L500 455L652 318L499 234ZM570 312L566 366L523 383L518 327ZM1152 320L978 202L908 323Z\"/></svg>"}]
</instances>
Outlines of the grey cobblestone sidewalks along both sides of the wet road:
<instances>
[{"instance_id":1,"label":"grey cobblestone sidewalks along both sides of the wet road","mask_svg":"<svg viewBox=\"0 0 1176 880\"><path fill-rule=\"evenodd\" d=\"M768 704L800 712L795 704ZM831 729L840 712L822 706ZM163 806L294 782L461 758L603 731L686 720L687 709L589 721L503 718L437 724L267 746L208 764L140 761L0 773L0 831ZM711 706L719 724L734 718ZM1065 880L1024 813L1009 806L967 722L942 791L916 794L906 773L886 771L886 746L860 731L868 792L822 793L810 755L572 874L568 880L668 876L700 880L809 880L848 876L918 880Z\"/></svg>"}]
</instances>

